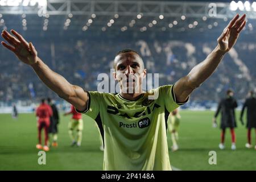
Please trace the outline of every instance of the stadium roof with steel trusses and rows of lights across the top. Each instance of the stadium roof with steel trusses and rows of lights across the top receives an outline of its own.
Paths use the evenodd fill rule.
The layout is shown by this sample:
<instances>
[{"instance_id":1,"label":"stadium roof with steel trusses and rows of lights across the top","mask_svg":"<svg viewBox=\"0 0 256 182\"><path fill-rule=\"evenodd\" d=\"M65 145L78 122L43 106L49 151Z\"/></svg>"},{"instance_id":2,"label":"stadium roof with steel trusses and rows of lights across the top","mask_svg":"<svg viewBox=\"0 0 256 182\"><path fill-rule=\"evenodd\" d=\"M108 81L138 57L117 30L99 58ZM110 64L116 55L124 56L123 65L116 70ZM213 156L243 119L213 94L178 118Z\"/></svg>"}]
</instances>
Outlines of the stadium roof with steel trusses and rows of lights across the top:
<instances>
[{"instance_id":1,"label":"stadium roof with steel trusses and rows of lights across the top","mask_svg":"<svg viewBox=\"0 0 256 182\"><path fill-rule=\"evenodd\" d=\"M35 32L185 31L211 29L237 13L256 19L255 9L242 3L230 9L225 0L208 1L0 1L0 28ZM13 2L11 4L10 2ZM250 28L250 27L249 27ZM252 25L251 25L251 28ZM198 30L197 30L198 31Z\"/></svg>"}]
</instances>

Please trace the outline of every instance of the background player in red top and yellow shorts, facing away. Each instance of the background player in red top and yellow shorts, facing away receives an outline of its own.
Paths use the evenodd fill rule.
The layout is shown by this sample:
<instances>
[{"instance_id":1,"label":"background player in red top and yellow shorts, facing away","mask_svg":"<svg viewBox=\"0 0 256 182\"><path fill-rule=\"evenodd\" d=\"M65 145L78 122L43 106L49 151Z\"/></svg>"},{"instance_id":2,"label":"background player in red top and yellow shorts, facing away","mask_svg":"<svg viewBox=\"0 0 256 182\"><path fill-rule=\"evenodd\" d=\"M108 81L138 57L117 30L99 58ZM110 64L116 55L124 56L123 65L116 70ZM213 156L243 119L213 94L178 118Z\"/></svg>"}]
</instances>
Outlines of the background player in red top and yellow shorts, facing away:
<instances>
[{"instance_id":1,"label":"background player in red top and yellow shorts, facing away","mask_svg":"<svg viewBox=\"0 0 256 182\"><path fill-rule=\"evenodd\" d=\"M72 114L72 119L68 123L68 133L72 140L71 146L81 146L82 142L82 129L83 129L83 123L82 123L82 114L77 113L75 107L71 105L71 111L68 113L65 113L64 115ZM75 132L77 131L77 137L75 135Z\"/></svg>"}]
</instances>

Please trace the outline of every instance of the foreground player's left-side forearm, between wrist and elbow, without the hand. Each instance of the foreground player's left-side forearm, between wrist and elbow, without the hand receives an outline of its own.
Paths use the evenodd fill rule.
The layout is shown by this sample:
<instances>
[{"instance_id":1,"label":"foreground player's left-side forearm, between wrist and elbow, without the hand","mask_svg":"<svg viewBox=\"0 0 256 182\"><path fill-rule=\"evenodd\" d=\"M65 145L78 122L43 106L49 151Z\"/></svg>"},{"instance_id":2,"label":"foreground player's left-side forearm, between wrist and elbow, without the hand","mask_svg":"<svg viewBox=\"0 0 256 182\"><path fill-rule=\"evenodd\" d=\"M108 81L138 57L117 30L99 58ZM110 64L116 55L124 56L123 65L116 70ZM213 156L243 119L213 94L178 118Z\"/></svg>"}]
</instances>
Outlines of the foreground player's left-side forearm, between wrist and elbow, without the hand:
<instances>
[{"instance_id":1,"label":"foreground player's left-side forearm, between wrist and elbow, without the hand","mask_svg":"<svg viewBox=\"0 0 256 182\"><path fill-rule=\"evenodd\" d=\"M42 60L38 58L38 61L35 64L32 64L31 67L34 69L40 80L44 82L57 93L62 98L68 98L74 93L72 85L61 75L53 72Z\"/></svg>"}]
</instances>

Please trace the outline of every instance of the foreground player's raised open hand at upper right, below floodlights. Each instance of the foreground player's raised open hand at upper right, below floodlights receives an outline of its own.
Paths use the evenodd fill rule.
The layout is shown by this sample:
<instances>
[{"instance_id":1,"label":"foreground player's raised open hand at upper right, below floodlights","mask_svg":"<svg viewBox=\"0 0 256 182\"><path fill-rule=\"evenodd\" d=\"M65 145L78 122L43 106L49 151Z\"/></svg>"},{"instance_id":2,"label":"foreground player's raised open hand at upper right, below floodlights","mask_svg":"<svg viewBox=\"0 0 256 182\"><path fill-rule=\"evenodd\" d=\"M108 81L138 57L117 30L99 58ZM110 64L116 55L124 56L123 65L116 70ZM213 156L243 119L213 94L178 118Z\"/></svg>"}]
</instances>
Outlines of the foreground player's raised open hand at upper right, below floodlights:
<instances>
[{"instance_id":1,"label":"foreground player's raised open hand at upper right, below floodlights","mask_svg":"<svg viewBox=\"0 0 256 182\"><path fill-rule=\"evenodd\" d=\"M228 26L224 29L221 36L217 39L218 48L220 51L228 52L237 42L238 36L246 24L246 15L243 14L240 18L237 14L229 22Z\"/></svg>"}]
</instances>

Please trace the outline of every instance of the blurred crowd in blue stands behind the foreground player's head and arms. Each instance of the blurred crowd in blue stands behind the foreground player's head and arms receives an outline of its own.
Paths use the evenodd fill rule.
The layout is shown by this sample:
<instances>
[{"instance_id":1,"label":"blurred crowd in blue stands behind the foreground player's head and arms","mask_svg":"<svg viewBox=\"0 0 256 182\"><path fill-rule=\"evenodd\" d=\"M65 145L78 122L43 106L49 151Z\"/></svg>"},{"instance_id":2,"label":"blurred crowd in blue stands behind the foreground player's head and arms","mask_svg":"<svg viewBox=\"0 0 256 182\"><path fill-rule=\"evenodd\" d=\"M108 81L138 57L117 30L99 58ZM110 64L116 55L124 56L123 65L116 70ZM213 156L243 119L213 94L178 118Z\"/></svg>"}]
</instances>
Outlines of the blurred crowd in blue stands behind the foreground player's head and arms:
<instances>
[{"instance_id":1,"label":"blurred crowd in blue stands behind the foreground player's head and arms","mask_svg":"<svg viewBox=\"0 0 256 182\"><path fill-rule=\"evenodd\" d=\"M39 57L53 71L86 90L97 90L99 73L110 75L115 54L132 48L143 58L148 73L159 73L159 85L174 84L216 46L216 42L175 40L98 38L45 40L34 43ZM218 101L229 88L243 99L254 89L256 43L240 41L225 57L217 71L191 96L191 101ZM60 98L43 84L32 68L20 63L0 47L0 100L39 101L42 97Z\"/></svg>"}]
</instances>

